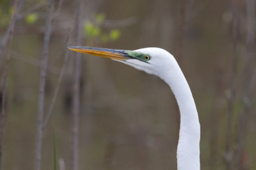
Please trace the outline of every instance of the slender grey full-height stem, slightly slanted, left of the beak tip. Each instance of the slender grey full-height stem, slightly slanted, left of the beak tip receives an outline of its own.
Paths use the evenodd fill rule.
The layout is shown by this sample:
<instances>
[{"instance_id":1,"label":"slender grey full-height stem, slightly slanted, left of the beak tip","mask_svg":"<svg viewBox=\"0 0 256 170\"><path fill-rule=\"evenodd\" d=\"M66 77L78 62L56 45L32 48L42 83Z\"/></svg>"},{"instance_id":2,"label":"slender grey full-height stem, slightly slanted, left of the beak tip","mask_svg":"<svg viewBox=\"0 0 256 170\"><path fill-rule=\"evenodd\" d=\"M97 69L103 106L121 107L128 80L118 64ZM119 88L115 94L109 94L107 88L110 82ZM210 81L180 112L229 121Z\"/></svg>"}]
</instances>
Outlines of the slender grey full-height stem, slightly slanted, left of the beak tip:
<instances>
[{"instance_id":1,"label":"slender grey full-height stem, slightly slanted, left of the beak tip","mask_svg":"<svg viewBox=\"0 0 256 170\"><path fill-rule=\"evenodd\" d=\"M41 69L39 101L38 101L36 157L35 157L36 170L40 170L40 163L41 163L45 78L46 78L46 71L47 71L47 60L48 60L48 53L49 53L50 36L51 36L51 6L53 1L54 0L47 1L47 9L46 9L45 36L44 36L44 47L43 47L43 53L42 53L42 69Z\"/></svg>"}]
</instances>

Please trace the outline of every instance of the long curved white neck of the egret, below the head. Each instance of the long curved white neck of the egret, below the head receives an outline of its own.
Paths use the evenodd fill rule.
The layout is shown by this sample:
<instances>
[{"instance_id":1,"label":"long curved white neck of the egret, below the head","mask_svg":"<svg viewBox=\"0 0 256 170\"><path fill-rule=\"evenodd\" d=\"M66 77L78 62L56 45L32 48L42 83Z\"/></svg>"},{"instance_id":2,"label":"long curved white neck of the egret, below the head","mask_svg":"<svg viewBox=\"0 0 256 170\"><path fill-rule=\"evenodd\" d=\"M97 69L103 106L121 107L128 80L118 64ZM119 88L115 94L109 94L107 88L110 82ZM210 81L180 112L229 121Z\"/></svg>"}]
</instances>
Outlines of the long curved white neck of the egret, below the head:
<instances>
[{"instance_id":1,"label":"long curved white neck of the egret, below the head","mask_svg":"<svg viewBox=\"0 0 256 170\"><path fill-rule=\"evenodd\" d=\"M200 123L188 82L177 62L172 69L165 70L160 77L171 87L180 110L180 135L177 147L178 170L199 170Z\"/></svg>"}]
</instances>

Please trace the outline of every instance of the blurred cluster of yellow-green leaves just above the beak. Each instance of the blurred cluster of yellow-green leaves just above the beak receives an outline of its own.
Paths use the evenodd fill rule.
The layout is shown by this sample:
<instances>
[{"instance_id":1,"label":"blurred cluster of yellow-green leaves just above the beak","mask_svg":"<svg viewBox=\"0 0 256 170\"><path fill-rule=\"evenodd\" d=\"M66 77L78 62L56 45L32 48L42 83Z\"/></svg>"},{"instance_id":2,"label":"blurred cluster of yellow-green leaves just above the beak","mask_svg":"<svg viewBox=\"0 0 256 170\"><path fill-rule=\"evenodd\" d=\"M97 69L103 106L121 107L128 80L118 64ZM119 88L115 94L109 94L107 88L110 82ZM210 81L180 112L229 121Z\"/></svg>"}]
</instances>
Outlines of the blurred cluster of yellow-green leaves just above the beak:
<instances>
[{"instance_id":1,"label":"blurred cluster of yellow-green leaves just above the beak","mask_svg":"<svg viewBox=\"0 0 256 170\"><path fill-rule=\"evenodd\" d=\"M118 29L107 31L103 29L105 18L104 13L99 13L94 21L84 23L84 34L87 36L88 41L100 39L102 43L107 43L108 41L116 41L120 38L121 32Z\"/></svg>"}]
</instances>

